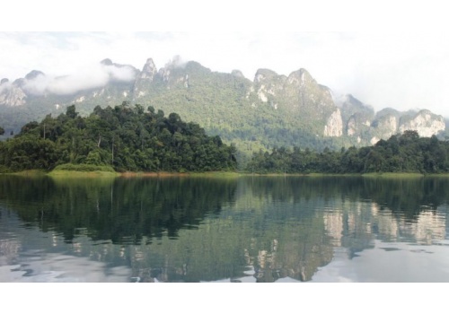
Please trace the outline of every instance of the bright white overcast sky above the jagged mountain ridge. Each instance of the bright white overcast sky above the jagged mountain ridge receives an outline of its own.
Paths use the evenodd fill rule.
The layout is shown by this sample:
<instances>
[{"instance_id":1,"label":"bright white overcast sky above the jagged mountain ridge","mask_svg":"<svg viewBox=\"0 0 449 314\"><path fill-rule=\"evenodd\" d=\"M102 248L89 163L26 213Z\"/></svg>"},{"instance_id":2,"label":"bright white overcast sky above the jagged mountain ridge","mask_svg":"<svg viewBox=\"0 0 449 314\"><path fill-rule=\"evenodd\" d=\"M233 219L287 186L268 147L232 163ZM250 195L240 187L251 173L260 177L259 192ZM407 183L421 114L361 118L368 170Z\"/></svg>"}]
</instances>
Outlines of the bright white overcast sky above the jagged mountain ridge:
<instances>
[{"instance_id":1,"label":"bright white overcast sky above the jagged mountain ridge","mask_svg":"<svg viewBox=\"0 0 449 314\"><path fill-rule=\"evenodd\" d=\"M170 0L138 10L131 0L129 7L136 10L125 14L113 2L109 9L88 12L68 2L58 13L42 16L33 13L42 6L30 2L29 15L21 19L28 23L13 17L0 25L5 30L0 79L40 70L47 80L69 75L65 83L73 86L101 84L108 77L104 71L111 70L99 67L105 58L142 69L147 58L161 68L180 56L212 71L241 70L251 81L259 68L285 75L304 68L336 96L350 93L375 110L430 109L449 117L449 28L442 22L443 7L438 10L431 0L314 3L286 7L283 0L260 1L255 9L233 0L215 6ZM21 4L7 5L13 12Z\"/></svg>"}]
</instances>

